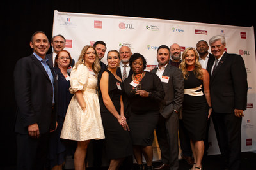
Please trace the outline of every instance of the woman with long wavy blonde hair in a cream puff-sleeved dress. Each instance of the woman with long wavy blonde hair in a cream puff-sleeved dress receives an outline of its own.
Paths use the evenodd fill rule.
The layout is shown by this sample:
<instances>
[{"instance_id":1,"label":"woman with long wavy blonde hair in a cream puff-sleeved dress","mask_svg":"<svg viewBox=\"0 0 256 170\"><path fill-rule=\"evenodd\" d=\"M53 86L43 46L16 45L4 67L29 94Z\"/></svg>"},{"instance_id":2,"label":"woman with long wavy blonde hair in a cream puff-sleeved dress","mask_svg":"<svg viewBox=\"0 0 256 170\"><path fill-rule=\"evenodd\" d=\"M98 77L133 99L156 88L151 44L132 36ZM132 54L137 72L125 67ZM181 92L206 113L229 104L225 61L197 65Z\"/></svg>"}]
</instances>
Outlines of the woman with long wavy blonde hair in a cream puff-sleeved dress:
<instances>
[{"instance_id":1,"label":"woman with long wavy blonde hair in a cream puff-sleeved dress","mask_svg":"<svg viewBox=\"0 0 256 170\"><path fill-rule=\"evenodd\" d=\"M74 154L75 169L85 169L87 146L91 139L104 139L97 96L99 57L93 46L84 46L70 74L70 93L74 94L68 106L61 138L77 141Z\"/></svg>"}]
</instances>

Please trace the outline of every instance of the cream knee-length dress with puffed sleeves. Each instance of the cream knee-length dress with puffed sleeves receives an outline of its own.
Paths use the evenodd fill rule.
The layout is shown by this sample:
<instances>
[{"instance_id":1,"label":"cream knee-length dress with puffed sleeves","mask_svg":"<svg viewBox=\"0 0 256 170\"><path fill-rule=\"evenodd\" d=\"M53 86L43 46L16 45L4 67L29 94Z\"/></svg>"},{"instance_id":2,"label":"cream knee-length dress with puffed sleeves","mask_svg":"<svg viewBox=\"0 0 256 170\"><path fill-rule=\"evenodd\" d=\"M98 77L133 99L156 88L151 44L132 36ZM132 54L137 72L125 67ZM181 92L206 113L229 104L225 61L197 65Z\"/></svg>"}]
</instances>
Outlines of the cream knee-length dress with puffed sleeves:
<instances>
[{"instance_id":1,"label":"cream knee-length dress with puffed sleeves","mask_svg":"<svg viewBox=\"0 0 256 170\"><path fill-rule=\"evenodd\" d=\"M72 69L70 75L70 92L83 92L86 109L83 112L74 95L68 106L60 138L74 141L104 139L104 130L100 116L100 105L97 96L97 78L90 74L84 64Z\"/></svg>"}]
</instances>

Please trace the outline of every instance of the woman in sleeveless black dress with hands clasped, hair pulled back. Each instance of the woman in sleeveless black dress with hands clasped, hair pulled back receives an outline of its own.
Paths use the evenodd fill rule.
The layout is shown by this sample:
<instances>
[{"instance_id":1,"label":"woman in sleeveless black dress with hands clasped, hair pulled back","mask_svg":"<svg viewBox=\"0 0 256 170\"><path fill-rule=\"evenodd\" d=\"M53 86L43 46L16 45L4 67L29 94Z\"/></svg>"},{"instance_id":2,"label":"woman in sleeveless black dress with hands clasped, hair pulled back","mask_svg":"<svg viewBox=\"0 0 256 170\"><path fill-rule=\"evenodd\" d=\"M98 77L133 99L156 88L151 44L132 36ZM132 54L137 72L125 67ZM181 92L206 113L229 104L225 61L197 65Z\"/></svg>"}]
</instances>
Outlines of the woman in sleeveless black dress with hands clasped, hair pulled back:
<instances>
[{"instance_id":1,"label":"woman in sleeveless black dress with hands clasped, hair pulled back","mask_svg":"<svg viewBox=\"0 0 256 170\"><path fill-rule=\"evenodd\" d=\"M108 52L108 69L99 75L99 103L102 124L106 136L109 169L118 169L125 157L132 155L129 127L124 116L123 85L116 69L120 63L118 51Z\"/></svg>"}]
</instances>

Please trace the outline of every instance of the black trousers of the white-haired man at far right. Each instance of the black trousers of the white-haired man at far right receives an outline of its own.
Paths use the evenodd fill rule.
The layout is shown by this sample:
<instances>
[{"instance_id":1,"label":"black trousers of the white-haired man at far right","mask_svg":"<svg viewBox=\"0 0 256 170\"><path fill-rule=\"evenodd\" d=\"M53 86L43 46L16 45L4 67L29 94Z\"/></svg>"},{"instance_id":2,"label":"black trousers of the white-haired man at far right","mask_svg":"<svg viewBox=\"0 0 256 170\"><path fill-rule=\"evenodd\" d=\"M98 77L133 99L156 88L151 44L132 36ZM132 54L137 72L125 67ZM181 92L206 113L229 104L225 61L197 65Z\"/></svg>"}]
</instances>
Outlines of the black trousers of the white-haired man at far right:
<instances>
[{"instance_id":1,"label":"black trousers of the white-haired man at far right","mask_svg":"<svg viewBox=\"0 0 256 170\"><path fill-rule=\"evenodd\" d=\"M240 169L241 164L241 122L234 113L212 112L212 122L225 168Z\"/></svg>"}]
</instances>

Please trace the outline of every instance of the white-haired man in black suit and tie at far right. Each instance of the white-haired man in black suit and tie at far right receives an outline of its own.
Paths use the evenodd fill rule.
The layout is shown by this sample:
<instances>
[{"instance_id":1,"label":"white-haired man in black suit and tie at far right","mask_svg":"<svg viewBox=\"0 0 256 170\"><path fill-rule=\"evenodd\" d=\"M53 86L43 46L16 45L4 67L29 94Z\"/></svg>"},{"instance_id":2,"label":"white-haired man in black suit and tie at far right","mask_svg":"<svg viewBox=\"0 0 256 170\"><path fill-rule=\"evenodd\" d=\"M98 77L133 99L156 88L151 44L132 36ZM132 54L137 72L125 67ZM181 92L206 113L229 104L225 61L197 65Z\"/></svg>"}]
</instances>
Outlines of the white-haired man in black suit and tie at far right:
<instances>
[{"instance_id":1,"label":"white-haired man in black suit and tie at far right","mask_svg":"<svg viewBox=\"0 0 256 170\"><path fill-rule=\"evenodd\" d=\"M225 52L225 37L209 40L212 121L225 168L240 169L241 122L247 102L247 74L241 55Z\"/></svg>"}]
</instances>

